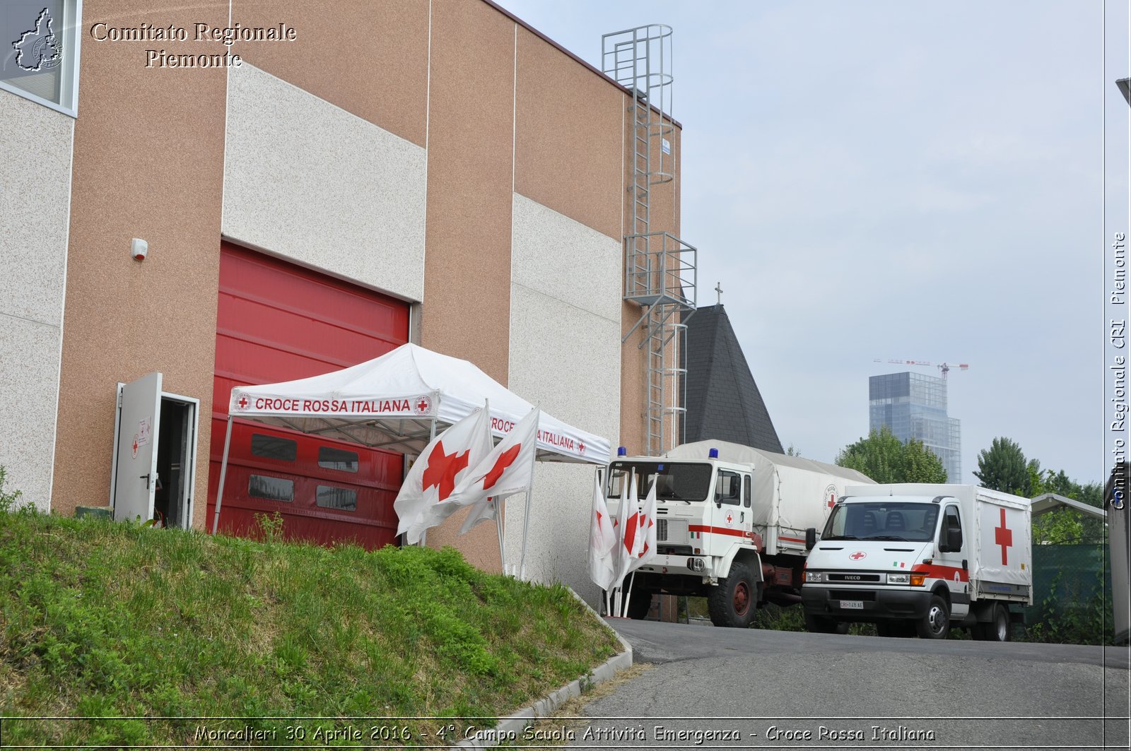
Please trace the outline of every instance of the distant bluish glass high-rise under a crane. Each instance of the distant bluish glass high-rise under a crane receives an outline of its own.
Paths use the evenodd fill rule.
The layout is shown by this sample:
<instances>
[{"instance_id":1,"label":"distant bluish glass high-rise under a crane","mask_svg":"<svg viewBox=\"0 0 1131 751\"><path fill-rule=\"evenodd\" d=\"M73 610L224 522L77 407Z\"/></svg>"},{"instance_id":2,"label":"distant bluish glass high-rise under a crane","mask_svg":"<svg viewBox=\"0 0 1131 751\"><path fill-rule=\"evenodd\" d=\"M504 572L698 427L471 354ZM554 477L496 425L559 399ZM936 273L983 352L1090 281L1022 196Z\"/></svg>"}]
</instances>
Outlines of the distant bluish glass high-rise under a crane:
<instances>
[{"instance_id":1,"label":"distant bluish glass high-rise under a crane","mask_svg":"<svg viewBox=\"0 0 1131 751\"><path fill-rule=\"evenodd\" d=\"M947 482L962 482L962 431L947 416L947 381L922 373L888 373L867 379L869 430L887 425L901 441L923 441L942 461Z\"/></svg>"}]
</instances>

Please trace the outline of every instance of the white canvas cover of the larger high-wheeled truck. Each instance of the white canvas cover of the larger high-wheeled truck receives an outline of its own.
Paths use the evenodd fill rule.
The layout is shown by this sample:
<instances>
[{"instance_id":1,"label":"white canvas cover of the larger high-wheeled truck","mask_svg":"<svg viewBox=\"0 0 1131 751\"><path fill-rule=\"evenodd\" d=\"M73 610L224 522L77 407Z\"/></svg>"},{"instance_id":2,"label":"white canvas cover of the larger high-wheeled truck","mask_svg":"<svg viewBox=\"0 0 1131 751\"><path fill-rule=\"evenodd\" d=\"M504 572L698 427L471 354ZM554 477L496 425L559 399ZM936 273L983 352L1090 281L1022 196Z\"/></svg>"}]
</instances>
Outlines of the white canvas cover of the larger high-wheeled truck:
<instances>
[{"instance_id":1,"label":"white canvas cover of the larger high-wheeled truck","mask_svg":"<svg viewBox=\"0 0 1131 751\"><path fill-rule=\"evenodd\" d=\"M829 509L844 494L846 486L872 483L867 475L855 469L727 441L684 443L665 456L702 460L713 448L718 449L718 458L723 461L753 467L751 494L754 503L751 511L754 527L777 528L780 530L778 538L794 545L804 545L806 528L820 529L824 526ZM768 538L766 543L767 550L774 552L774 539Z\"/></svg>"}]
</instances>

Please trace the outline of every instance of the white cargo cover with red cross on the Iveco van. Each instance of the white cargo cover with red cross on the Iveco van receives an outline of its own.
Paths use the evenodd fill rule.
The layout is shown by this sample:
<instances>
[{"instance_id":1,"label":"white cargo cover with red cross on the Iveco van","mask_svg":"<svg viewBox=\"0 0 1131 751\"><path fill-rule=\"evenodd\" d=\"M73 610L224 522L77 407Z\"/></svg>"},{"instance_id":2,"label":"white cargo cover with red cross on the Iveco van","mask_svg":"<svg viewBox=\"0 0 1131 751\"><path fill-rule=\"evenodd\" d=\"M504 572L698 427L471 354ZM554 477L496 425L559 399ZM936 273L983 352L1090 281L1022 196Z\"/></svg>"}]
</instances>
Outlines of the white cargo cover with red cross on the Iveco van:
<instances>
[{"instance_id":1,"label":"white cargo cover with red cross on the Iveco van","mask_svg":"<svg viewBox=\"0 0 1131 751\"><path fill-rule=\"evenodd\" d=\"M905 483L860 485L846 495L897 495L958 500L962 535L970 552L970 586L975 592L1013 594L1033 585L1031 509L1028 499L975 485Z\"/></svg>"}]
</instances>

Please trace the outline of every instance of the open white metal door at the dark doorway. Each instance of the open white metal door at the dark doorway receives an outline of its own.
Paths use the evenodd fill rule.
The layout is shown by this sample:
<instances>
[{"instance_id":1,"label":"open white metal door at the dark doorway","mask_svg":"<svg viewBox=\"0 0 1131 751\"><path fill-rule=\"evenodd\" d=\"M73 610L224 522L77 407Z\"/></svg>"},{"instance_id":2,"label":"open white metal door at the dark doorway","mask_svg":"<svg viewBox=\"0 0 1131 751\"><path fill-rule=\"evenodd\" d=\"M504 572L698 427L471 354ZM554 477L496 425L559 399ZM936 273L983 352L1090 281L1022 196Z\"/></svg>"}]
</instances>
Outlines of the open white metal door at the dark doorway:
<instances>
[{"instance_id":1,"label":"open white metal door at the dark doorway","mask_svg":"<svg viewBox=\"0 0 1131 751\"><path fill-rule=\"evenodd\" d=\"M149 373L122 387L114 478L115 521L153 518L159 422L161 373Z\"/></svg>"}]
</instances>

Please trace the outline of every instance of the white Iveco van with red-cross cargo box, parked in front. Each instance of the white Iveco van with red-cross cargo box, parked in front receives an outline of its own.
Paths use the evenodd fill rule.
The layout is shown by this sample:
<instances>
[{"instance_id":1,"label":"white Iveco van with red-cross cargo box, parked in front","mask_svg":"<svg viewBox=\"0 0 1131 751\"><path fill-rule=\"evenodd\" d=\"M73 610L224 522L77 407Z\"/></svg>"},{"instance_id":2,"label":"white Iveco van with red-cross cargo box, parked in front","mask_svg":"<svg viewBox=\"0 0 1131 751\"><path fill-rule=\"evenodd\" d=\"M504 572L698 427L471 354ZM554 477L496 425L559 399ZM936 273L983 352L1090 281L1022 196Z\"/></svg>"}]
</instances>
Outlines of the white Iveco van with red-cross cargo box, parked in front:
<instances>
[{"instance_id":1,"label":"white Iveco van with red-cross cargo box, parked in front","mask_svg":"<svg viewBox=\"0 0 1131 751\"><path fill-rule=\"evenodd\" d=\"M847 487L806 561L805 625L1007 641L1010 605L1033 604L1030 521L1028 499L975 485Z\"/></svg>"}]
</instances>

